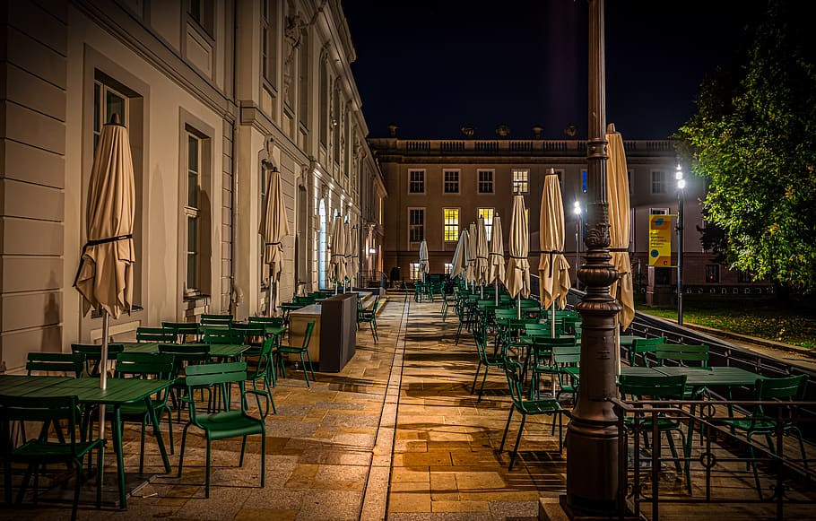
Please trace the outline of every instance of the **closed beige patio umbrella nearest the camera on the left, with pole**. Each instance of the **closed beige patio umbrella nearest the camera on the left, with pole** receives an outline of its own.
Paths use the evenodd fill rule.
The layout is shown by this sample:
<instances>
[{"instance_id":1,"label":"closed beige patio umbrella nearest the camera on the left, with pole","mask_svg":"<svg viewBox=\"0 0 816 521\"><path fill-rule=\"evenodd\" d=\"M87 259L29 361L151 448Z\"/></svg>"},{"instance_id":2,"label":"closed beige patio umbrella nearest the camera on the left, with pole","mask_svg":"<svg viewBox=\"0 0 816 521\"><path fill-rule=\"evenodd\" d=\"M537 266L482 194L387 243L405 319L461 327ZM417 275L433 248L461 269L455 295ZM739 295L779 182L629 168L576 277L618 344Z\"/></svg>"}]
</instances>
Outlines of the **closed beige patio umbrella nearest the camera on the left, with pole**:
<instances>
[{"instance_id":1,"label":"closed beige patio umbrella nearest the camera on the left, with pole","mask_svg":"<svg viewBox=\"0 0 816 521\"><path fill-rule=\"evenodd\" d=\"M135 184L127 129L114 116L102 126L93 158L86 213L87 242L74 280L82 295L82 314L102 314L100 386L108 387L109 317L129 311L133 299ZM100 407L100 438L105 434Z\"/></svg>"}]
</instances>

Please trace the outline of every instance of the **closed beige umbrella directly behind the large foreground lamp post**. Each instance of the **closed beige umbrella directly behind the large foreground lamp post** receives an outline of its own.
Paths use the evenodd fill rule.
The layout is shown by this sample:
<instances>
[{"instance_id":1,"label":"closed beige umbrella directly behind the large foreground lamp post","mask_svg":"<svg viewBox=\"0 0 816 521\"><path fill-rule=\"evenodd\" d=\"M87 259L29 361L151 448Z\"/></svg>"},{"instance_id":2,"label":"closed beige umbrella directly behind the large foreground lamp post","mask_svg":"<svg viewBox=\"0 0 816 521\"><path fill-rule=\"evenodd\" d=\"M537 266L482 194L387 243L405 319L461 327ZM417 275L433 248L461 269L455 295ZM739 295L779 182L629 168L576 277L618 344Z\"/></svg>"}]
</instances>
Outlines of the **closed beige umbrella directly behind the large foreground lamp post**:
<instances>
[{"instance_id":1,"label":"closed beige umbrella directly behind the large foreground lamp post","mask_svg":"<svg viewBox=\"0 0 816 521\"><path fill-rule=\"evenodd\" d=\"M612 282L610 294L623 310L618 321L623 329L629 327L635 317L635 298L632 286L632 266L629 262L629 176L623 138L610 123L606 129L609 157L606 160L606 187L609 198L609 251L612 265L618 272L618 280Z\"/></svg>"}]
</instances>

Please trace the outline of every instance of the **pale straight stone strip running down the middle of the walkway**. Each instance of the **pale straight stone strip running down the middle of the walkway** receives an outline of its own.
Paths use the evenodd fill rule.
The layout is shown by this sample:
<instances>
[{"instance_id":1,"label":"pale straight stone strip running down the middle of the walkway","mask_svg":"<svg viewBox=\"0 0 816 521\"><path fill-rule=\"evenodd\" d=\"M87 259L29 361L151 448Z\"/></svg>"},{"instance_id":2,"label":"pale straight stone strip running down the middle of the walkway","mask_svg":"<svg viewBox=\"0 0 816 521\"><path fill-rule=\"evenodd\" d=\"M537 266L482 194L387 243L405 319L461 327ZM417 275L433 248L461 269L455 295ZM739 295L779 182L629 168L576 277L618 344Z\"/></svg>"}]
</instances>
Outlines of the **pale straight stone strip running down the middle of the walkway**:
<instances>
[{"instance_id":1,"label":"pale straight stone strip running down the middle of the walkway","mask_svg":"<svg viewBox=\"0 0 816 521\"><path fill-rule=\"evenodd\" d=\"M394 300L390 302L396 303ZM387 515L388 491L390 489L396 436L396 415L403 380L405 332L408 329L409 308L410 300L406 299L403 302L403 311L400 315L395 338L394 358L391 361L391 373L388 376L377 439L375 439L374 453L371 456L369 477L366 481L365 493L360 508L360 521L379 521L385 519Z\"/></svg>"}]
</instances>

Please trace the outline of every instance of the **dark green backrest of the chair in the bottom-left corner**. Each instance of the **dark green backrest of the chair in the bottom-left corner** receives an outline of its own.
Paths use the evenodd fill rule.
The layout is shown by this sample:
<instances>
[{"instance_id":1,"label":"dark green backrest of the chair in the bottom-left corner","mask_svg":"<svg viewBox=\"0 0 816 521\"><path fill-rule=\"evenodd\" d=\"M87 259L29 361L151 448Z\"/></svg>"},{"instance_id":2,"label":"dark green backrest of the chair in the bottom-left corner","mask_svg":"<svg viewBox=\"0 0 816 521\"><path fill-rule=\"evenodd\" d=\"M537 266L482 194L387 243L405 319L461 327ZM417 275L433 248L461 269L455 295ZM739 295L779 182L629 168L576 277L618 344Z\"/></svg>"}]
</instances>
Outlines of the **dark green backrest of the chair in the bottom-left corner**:
<instances>
[{"instance_id":1,"label":"dark green backrest of the chair in the bottom-left corner","mask_svg":"<svg viewBox=\"0 0 816 521\"><path fill-rule=\"evenodd\" d=\"M53 421L55 424L66 421L69 443L73 447L76 445L76 425L80 415L76 396L0 395L0 438L4 440L4 443L0 443L0 453L7 455L12 450L12 446L5 442L11 439L12 421Z\"/></svg>"}]
</instances>

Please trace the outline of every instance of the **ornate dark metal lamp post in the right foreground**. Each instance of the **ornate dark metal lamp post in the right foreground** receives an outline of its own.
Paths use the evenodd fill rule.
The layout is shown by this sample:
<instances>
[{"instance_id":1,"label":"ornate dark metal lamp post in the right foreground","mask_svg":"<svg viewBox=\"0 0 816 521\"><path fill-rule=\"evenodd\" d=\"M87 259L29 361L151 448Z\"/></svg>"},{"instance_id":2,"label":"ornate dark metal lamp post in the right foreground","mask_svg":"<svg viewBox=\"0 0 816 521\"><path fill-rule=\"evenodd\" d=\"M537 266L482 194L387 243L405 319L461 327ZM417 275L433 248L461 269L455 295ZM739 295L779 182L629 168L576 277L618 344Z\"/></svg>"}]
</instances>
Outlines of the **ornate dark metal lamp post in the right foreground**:
<instances>
[{"instance_id":1,"label":"ornate dark metal lamp post in the right foreground","mask_svg":"<svg viewBox=\"0 0 816 521\"><path fill-rule=\"evenodd\" d=\"M561 505L570 519L623 516L626 491L619 484L619 432L612 399L618 396L615 330L621 305L609 287L618 278L610 263L609 202L606 194L606 86L603 0L589 0L589 132L586 142L586 253L579 277L586 295L581 315L581 392L567 427L567 495ZM625 449L624 449L625 450Z\"/></svg>"}]
</instances>

